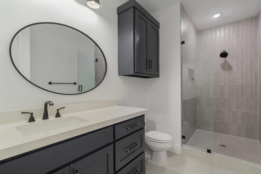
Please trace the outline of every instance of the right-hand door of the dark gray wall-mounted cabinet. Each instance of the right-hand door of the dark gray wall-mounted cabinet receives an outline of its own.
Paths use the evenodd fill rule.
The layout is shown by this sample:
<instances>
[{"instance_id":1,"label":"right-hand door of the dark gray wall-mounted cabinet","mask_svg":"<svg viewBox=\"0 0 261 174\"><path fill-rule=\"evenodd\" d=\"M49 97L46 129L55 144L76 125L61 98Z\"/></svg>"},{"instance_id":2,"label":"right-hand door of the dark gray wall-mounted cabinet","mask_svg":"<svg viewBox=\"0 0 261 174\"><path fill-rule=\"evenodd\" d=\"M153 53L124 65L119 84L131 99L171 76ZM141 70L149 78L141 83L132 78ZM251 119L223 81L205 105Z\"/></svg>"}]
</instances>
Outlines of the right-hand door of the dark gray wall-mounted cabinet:
<instances>
[{"instance_id":1,"label":"right-hand door of the dark gray wall-mounted cabinet","mask_svg":"<svg viewBox=\"0 0 261 174\"><path fill-rule=\"evenodd\" d=\"M149 74L159 75L159 28L151 21L148 22L148 58L150 61Z\"/></svg>"}]
</instances>

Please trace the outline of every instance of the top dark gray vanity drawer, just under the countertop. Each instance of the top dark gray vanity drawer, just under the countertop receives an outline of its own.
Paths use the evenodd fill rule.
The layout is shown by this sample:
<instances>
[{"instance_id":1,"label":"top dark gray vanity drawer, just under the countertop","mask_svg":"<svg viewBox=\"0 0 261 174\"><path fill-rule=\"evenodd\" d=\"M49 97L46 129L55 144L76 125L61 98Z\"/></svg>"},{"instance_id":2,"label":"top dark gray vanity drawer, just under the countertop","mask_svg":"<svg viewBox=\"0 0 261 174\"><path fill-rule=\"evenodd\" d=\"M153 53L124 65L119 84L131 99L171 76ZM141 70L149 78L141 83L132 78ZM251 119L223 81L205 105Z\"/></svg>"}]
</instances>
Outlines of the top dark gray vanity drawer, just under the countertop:
<instances>
[{"instance_id":1,"label":"top dark gray vanity drawer, just under the countertop","mask_svg":"<svg viewBox=\"0 0 261 174\"><path fill-rule=\"evenodd\" d=\"M124 137L132 132L144 128L144 115L128 120L123 123L116 124L114 126L115 139Z\"/></svg>"}]
</instances>

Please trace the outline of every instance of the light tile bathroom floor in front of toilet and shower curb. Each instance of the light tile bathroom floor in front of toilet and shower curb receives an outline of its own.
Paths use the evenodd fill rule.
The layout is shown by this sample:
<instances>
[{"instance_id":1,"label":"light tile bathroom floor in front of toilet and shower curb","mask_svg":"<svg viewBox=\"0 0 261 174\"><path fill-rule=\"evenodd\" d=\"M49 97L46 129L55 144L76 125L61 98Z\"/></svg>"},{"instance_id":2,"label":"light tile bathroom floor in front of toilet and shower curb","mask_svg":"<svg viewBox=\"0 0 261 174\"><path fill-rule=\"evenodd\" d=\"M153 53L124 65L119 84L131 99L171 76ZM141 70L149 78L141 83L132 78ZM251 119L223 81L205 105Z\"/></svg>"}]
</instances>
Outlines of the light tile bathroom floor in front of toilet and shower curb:
<instances>
[{"instance_id":1,"label":"light tile bathroom floor in front of toilet and shower curb","mask_svg":"<svg viewBox=\"0 0 261 174\"><path fill-rule=\"evenodd\" d=\"M158 167L145 163L146 174L235 174L223 168L168 151L168 165Z\"/></svg>"}]
</instances>

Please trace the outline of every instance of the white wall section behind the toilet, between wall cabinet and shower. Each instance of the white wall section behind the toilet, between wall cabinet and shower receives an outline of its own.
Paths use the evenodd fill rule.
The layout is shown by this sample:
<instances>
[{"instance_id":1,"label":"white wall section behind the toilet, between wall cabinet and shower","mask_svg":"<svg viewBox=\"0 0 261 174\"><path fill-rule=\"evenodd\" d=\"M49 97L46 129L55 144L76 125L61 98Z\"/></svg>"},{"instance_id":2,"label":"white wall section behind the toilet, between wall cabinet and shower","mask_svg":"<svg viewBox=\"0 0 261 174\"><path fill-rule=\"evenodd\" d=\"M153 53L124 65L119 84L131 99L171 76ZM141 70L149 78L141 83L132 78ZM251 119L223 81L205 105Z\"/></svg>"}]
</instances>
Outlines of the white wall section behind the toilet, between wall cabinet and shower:
<instances>
[{"instance_id":1,"label":"white wall section behind the toilet, between wall cabinet and shower","mask_svg":"<svg viewBox=\"0 0 261 174\"><path fill-rule=\"evenodd\" d=\"M181 145L180 3L152 14L160 22L160 78L146 79L147 130Z\"/></svg>"}]
</instances>

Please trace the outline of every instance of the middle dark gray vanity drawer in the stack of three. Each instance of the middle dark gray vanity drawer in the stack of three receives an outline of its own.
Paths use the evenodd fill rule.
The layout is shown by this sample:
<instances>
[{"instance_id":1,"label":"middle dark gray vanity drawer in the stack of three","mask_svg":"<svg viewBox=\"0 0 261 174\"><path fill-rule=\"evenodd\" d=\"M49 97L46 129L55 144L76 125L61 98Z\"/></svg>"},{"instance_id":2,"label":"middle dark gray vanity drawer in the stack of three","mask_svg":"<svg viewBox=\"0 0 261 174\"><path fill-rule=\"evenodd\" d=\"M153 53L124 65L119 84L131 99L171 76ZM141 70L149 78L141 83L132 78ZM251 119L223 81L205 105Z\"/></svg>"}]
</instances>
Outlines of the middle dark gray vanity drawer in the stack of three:
<instances>
[{"instance_id":1,"label":"middle dark gray vanity drawer in the stack of three","mask_svg":"<svg viewBox=\"0 0 261 174\"><path fill-rule=\"evenodd\" d=\"M115 142L115 171L145 150L144 129Z\"/></svg>"}]
</instances>

